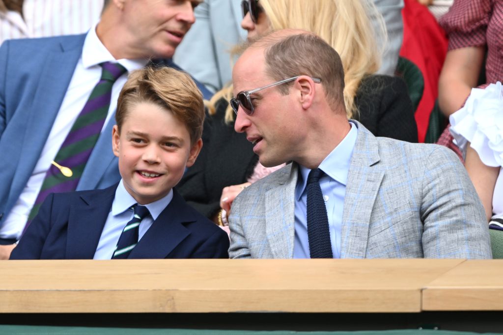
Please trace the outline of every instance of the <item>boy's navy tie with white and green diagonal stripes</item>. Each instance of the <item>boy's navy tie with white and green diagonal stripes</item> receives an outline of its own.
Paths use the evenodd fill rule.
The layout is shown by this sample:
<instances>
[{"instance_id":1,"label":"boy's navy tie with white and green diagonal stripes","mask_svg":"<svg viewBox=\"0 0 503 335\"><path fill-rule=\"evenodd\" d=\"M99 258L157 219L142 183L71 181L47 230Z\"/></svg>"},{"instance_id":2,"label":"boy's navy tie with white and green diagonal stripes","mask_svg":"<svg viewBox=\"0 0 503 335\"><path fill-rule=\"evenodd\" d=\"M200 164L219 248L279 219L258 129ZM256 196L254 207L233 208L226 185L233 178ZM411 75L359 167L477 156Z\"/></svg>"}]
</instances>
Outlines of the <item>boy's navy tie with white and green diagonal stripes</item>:
<instances>
[{"instance_id":1,"label":"boy's navy tie with white and green diagonal stripes","mask_svg":"<svg viewBox=\"0 0 503 335\"><path fill-rule=\"evenodd\" d=\"M133 218L126 224L124 230L122 230L117 246L115 247L112 260L129 257L131 250L133 250L136 243L138 243L138 231L141 220L149 214L148 209L145 206L134 205L130 208L130 210L134 211Z\"/></svg>"}]
</instances>

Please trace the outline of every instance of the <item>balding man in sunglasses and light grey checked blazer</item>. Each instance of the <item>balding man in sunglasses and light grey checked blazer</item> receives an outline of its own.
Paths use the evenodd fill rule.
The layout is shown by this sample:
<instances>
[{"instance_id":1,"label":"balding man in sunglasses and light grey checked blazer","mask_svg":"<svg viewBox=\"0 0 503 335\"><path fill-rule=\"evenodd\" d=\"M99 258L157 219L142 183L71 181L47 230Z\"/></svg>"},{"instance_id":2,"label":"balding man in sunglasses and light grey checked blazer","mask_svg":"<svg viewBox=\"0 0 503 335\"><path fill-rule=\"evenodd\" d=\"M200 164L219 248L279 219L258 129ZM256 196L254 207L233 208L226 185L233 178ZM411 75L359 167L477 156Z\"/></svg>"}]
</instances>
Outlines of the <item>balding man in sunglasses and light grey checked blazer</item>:
<instances>
[{"instance_id":1,"label":"balding man in sunglasses and light grey checked blazer","mask_svg":"<svg viewBox=\"0 0 503 335\"><path fill-rule=\"evenodd\" d=\"M491 258L484 210L456 155L348 120L343 78L337 52L304 31L273 32L238 59L235 130L263 165L291 163L234 200L229 256Z\"/></svg>"}]
</instances>

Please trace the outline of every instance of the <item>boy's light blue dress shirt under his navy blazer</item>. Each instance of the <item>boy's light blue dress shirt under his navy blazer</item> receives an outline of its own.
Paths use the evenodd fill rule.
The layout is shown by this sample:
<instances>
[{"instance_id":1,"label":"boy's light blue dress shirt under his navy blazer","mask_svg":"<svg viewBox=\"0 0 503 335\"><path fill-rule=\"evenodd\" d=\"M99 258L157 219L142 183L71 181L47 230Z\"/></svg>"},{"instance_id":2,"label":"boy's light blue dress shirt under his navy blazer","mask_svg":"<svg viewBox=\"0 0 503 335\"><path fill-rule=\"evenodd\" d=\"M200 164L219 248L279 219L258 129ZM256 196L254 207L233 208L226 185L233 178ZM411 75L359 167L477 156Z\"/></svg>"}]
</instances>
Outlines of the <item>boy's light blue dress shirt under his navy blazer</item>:
<instances>
[{"instance_id":1,"label":"boy's light blue dress shirt under his navy blazer","mask_svg":"<svg viewBox=\"0 0 503 335\"><path fill-rule=\"evenodd\" d=\"M145 217L138 227L138 240L140 240L145 232L152 226L152 223L159 216L159 214L170 204L173 199L173 190L170 191L163 198L146 204L145 207L150 212L150 215ZM108 213L107 221L101 232L100 241L96 248L94 256L95 260L110 260L115 251L119 237L126 224L133 218L133 211L129 208L136 204L136 200L126 191L123 181L121 179L117 190L115 191L115 198L112 202L112 208Z\"/></svg>"}]
</instances>

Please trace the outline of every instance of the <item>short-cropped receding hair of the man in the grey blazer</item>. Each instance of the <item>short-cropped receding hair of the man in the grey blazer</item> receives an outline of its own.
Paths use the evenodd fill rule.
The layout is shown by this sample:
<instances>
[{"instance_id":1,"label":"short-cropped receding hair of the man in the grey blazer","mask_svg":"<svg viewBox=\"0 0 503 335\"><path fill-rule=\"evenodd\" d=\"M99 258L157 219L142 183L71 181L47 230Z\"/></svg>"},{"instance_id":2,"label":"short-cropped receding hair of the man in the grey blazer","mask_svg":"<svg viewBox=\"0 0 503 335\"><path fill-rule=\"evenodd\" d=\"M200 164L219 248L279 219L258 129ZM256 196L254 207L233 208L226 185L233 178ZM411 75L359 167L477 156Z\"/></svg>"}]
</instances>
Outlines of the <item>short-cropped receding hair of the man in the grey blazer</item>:
<instances>
[{"instance_id":1,"label":"short-cropped receding hair of the man in the grey blazer","mask_svg":"<svg viewBox=\"0 0 503 335\"><path fill-rule=\"evenodd\" d=\"M341 57L319 36L306 32L285 37L281 31L276 31L258 40L256 44L259 47L265 46L266 72L274 80L302 74L320 78L328 103L334 109L345 106ZM282 85L278 90L282 94L288 94L289 87L288 84Z\"/></svg>"}]
</instances>

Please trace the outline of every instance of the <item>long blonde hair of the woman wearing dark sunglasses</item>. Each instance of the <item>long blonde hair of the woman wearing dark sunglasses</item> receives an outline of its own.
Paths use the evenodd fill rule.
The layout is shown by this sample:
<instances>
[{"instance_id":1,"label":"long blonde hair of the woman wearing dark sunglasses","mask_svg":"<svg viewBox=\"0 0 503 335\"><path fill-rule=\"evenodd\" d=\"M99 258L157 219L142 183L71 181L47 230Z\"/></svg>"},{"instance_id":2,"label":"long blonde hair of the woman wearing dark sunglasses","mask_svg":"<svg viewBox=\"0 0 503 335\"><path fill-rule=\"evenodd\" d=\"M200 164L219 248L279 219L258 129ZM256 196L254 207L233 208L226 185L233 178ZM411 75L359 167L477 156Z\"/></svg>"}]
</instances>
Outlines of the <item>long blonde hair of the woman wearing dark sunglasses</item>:
<instances>
[{"instance_id":1,"label":"long blonde hair of the woman wearing dark sunglasses","mask_svg":"<svg viewBox=\"0 0 503 335\"><path fill-rule=\"evenodd\" d=\"M384 20L370 0L260 0L272 30L294 28L310 31L335 49L344 68L344 101L348 118L357 116L355 96L362 79L375 73L380 65L383 46L377 40L387 40ZM372 26L371 18L378 22ZM378 29L375 33L374 29ZM377 36L380 38L378 39ZM232 87L224 88L210 100L210 114L215 103L232 97ZM230 107L225 121L233 121Z\"/></svg>"}]
</instances>

